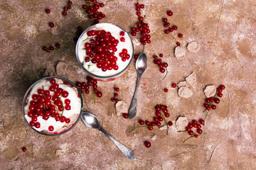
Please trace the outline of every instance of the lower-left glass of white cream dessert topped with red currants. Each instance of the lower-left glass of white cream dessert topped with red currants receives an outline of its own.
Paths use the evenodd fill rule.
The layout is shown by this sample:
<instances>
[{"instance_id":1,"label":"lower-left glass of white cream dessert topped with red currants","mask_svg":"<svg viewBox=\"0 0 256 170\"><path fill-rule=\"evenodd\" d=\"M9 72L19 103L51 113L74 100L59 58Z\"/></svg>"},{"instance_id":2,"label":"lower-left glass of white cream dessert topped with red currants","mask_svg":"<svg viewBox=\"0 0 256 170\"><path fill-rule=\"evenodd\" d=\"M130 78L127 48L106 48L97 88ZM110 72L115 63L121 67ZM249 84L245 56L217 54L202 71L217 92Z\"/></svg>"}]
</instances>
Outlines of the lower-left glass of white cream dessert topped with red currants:
<instances>
[{"instance_id":1,"label":"lower-left glass of white cream dessert topped with red currants","mask_svg":"<svg viewBox=\"0 0 256 170\"><path fill-rule=\"evenodd\" d=\"M22 111L26 123L36 132L49 136L61 135L80 120L82 95L68 79L44 77L26 91Z\"/></svg>"}]
</instances>

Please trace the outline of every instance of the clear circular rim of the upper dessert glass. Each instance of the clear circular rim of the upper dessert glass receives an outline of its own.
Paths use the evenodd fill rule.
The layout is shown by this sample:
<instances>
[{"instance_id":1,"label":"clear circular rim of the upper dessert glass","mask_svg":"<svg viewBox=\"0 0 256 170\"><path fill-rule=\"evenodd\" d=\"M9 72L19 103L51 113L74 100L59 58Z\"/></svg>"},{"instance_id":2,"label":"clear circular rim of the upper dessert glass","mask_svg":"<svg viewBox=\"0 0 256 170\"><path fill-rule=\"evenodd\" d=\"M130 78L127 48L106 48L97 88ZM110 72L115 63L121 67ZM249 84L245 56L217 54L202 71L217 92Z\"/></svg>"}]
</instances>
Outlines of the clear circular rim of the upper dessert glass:
<instances>
[{"instance_id":1,"label":"clear circular rim of the upper dessert glass","mask_svg":"<svg viewBox=\"0 0 256 170\"><path fill-rule=\"evenodd\" d=\"M82 35L84 35L88 30L90 30L92 27L95 27L96 25L99 25L99 24L102 24L102 23L96 23L88 28L86 28L82 34L80 35L80 37L78 38L78 41L75 45L75 57L77 58L78 60L78 64L80 65L80 67L82 67L83 70L85 70L85 72L87 72L87 74L90 74L92 75L92 77L96 77L96 78L99 78L99 79L111 79L113 77L118 77L119 75L122 75L129 67L129 65L132 63L132 59L134 57L134 45L133 45L133 42L132 42L132 38L130 37L129 33L127 33L126 30L124 30L123 28L115 25L114 23L107 23L107 24L111 24L113 26L117 26L118 28L120 28L121 30L124 31L124 33L127 33L127 35L129 36L129 40L131 41L131 44L132 44L132 56L131 56L131 60L129 61L129 63L127 64L127 66L121 71L121 72L118 72L117 74L113 74L111 76L106 76L106 77L102 77L102 76L99 76L99 75L96 75L96 74L93 74L92 72L89 72L87 69L85 69L85 67L82 65L82 63L80 62L80 59L78 57L78 44L79 44L79 41L80 39L82 38Z\"/></svg>"}]
</instances>

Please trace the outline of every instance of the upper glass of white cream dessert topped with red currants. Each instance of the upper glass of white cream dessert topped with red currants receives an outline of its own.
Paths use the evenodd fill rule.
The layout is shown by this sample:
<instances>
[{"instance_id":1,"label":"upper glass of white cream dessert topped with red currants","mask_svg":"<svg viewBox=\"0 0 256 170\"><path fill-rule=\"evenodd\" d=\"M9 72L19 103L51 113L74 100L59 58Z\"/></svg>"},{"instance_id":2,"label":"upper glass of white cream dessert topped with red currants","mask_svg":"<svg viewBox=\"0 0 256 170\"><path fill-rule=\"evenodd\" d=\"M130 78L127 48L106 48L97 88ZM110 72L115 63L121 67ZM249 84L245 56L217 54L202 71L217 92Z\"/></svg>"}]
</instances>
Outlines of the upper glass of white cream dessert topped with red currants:
<instances>
[{"instance_id":1,"label":"upper glass of white cream dessert topped with red currants","mask_svg":"<svg viewBox=\"0 0 256 170\"><path fill-rule=\"evenodd\" d=\"M97 23L78 39L75 53L80 67L90 77L112 81L132 62L134 47L128 33L112 23Z\"/></svg>"}]
</instances>

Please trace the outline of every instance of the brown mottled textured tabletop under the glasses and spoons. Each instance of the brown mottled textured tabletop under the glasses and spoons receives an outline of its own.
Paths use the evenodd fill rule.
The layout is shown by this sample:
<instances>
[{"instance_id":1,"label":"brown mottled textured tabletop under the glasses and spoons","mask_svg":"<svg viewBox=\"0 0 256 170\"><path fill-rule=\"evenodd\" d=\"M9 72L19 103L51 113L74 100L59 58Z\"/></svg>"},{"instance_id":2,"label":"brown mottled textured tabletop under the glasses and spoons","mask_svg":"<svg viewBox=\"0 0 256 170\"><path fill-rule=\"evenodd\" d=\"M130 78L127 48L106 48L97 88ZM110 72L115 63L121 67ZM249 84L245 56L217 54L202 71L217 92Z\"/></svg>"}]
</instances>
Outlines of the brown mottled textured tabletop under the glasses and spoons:
<instances>
[{"instance_id":1,"label":"brown mottled textured tabletop under the glasses and spoons","mask_svg":"<svg viewBox=\"0 0 256 170\"><path fill-rule=\"evenodd\" d=\"M93 103L92 94L86 96L90 109L102 126L119 142L134 150L136 160L130 161L100 131L87 128L82 121L57 137L39 135L26 124L21 111L23 95L34 81L46 71L71 81L85 80L85 74L75 59L73 37L77 26L87 28L90 21L73 6L65 21L61 15L67 1L6 0L0 2L0 165L1 169L256 169L255 147L255 54L256 3L253 0L223 1L139 1L145 4L143 14L151 30L151 44L146 45L149 68L142 77L139 89L138 114L134 120L115 115L110 101L116 81L99 82L102 98ZM110 22L129 31L137 22L136 1L100 1L106 14L100 22ZM74 4L83 4L74 0ZM44 12L50 8L50 14ZM174 57L175 41L163 33L161 18L166 10L174 12L169 18L183 33L181 45L196 41L201 45L197 53ZM55 27L50 29L48 22ZM135 52L142 52L138 37L133 38ZM43 45L60 42L68 50L43 52ZM164 54L169 74L163 74L152 62L152 56ZM191 72L197 75L191 98L179 98L171 82L183 81ZM134 93L137 74L134 62L117 81L118 98L129 106ZM144 84L144 85L143 85ZM178 134L175 125L166 136L165 130L140 129L139 118L154 115L154 106L169 107L169 120L175 124L179 115L189 121L204 117L203 89L206 85L225 84L223 98L217 109L210 111L204 134L183 144L188 134ZM169 87L169 92L163 89ZM128 110L128 108L127 108ZM136 133L137 136L133 134ZM156 140L151 140L151 135ZM147 149L143 143L151 142ZM27 152L22 152L25 146ZM213 152L214 150L214 152ZM211 157L212 155L212 157Z\"/></svg>"}]
</instances>

